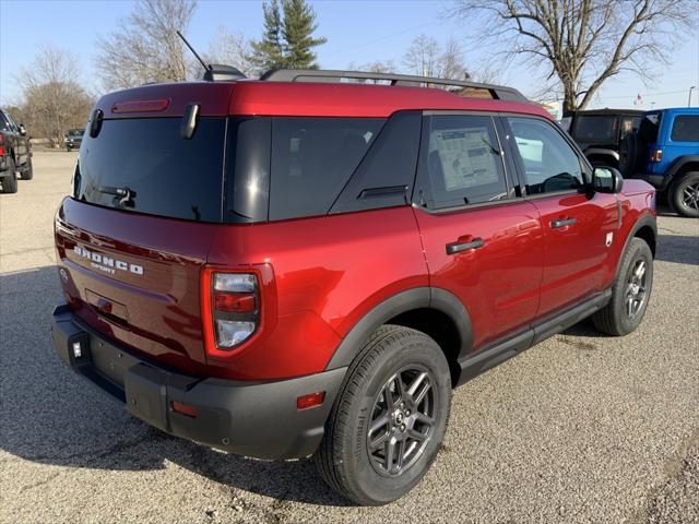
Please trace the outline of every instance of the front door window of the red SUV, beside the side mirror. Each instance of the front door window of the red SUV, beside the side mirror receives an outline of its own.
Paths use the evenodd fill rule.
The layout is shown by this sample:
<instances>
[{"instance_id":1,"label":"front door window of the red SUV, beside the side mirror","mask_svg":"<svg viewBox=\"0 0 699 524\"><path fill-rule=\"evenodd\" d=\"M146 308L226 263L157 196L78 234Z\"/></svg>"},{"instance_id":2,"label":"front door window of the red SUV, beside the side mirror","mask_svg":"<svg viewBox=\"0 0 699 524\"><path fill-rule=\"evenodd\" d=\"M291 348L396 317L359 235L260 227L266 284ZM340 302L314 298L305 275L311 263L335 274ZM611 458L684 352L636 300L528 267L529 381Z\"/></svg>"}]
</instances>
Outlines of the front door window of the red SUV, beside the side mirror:
<instances>
[{"instance_id":1,"label":"front door window of the red SUV, beside the side mirror","mask_svg":"<svg viewBox=\"0 0 699 524\"><path fill-rule=\"evenodd\" d=\"M554 126L533 118L507 120L524 168L528 193L550 193L583 186L580 159Z\"/></svg>"}]
</instances>

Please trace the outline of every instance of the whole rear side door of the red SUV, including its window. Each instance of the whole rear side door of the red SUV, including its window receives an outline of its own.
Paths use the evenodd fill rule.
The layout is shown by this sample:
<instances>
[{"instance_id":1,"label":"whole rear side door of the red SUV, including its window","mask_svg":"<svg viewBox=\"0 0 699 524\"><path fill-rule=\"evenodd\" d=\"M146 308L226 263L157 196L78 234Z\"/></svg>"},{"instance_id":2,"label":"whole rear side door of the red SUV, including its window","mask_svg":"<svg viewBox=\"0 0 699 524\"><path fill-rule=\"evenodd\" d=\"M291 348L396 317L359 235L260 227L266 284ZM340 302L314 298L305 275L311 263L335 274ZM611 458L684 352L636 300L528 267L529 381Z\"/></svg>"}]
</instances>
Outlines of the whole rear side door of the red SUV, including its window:
<instances>
[{"instance_id":1,"label":"whole rear side door of the red SUV, including its window","mask_svg":"<svg viewBox=\"0 0 699 524\"><path fill-rule=\"evenodd\" d=\"M511 175L490 115L425 117L415 216L430 285L464 305L476 350L529 326L538 307L542 226Z\"/></svg>"}]
</instances>

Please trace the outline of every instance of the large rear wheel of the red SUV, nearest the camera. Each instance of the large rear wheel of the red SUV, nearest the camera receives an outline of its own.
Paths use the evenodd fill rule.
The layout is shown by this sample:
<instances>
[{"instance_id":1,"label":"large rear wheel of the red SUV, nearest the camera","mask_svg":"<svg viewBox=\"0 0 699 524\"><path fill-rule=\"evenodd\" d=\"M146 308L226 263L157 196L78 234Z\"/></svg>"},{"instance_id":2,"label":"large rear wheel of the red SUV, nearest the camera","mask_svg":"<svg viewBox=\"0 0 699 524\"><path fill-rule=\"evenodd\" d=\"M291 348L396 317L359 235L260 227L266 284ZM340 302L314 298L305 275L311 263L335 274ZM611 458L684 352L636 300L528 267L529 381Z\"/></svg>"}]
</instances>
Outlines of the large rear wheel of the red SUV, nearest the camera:
<instances>
[{"instance_id":1,"label":"large rear wheel of the red SUV, nearest the camera","mask_svg":"<svg viewBox=\"0 0 699 524\"><path fill-rule=\"evenodd\" d=\"M426 376L418 382L422 373ZM416 385L417 407L392 390L398 389L399 377ZM403 392L410 393L410 388L404 386ZM435 461L450 406L449 366L437 343L407 327L380 327L350 367L330 413L315 455L320 476L357 504L382 505L398 500L422 480ZM431 417L423 416L426 413ZM431 425L420 421L428 418ZM370 430L372 426L377 429ZM374 442L381 442L374 451L369 449L369 434ZM415 440L413 434L423 440ZM394 443L403 438L403 444ZM393 454L389 453L391 448ZM404 467L391 456L404 460Z\"/></svg>"}]
</instances>

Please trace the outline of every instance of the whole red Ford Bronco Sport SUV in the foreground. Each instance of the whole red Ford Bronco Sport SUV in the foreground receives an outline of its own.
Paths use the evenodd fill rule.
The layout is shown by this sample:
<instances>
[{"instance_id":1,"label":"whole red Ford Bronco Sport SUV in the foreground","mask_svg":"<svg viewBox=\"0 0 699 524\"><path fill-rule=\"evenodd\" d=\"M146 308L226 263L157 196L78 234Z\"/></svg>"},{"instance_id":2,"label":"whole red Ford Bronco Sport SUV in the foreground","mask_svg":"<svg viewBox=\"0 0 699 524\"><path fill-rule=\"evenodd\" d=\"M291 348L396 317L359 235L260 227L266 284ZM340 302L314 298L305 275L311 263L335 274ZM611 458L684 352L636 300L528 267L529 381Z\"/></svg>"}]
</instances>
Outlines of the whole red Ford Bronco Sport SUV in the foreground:
<instances>
[{"instance_id":1,"label":"whole red Ford Bronco Sport SUV in the foreground","mask_svg":"<svg viewBox=\"0 0 699 524\"><path fill-rule=\"evenodd\" d=\"M588 315L636 329L654 207L507 87L275 71L120 91L56 214L54 344L152 426L315 455L383 504L434 462L454 386Z\"/></svg>"}]
</instances>

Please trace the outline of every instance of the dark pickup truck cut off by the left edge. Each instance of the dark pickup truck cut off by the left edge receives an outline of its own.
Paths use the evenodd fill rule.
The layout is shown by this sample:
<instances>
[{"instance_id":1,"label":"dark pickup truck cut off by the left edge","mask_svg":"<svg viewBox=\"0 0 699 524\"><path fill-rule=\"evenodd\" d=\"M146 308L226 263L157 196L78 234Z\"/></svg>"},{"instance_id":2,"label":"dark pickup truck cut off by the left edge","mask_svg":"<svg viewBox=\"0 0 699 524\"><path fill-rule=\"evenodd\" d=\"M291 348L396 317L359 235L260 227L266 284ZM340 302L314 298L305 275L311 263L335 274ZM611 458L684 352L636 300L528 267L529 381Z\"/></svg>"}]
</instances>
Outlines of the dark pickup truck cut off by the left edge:
<instances>
[{"instance_id":1,"label":"dark pickup truck cut off by the left edge","mask_svg":"<svg viewBox=\"0 0 699 524\"><path fill-rule=\"evenodd\" d=\"M0 109L0 184L3 193L17 192L17 174L32 180L32 142L24 126L16 124L9 112Z\"/></svg>"}]
</instances>

